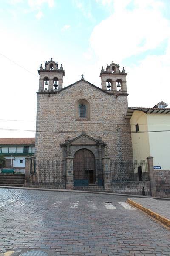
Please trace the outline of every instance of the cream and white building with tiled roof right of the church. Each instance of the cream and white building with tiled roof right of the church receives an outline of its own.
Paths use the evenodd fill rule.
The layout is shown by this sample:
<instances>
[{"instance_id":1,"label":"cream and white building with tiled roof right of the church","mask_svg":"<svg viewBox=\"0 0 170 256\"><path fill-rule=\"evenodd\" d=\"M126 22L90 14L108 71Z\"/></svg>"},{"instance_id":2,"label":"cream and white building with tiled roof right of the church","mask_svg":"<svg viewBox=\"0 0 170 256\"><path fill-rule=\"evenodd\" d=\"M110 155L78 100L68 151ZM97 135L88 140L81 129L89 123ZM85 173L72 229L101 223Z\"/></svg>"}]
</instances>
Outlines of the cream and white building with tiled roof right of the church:
<instances>
[{"instance_id":1,"label":"cream and white building with tiled roof right of the church","mask_svg":"<svg viewBox=\"0 0 170 256\"><path fill-rule=\"evenodd\" d=\"M133 159L152 156L154 169L170 170L170 108L159 102L153 108L128 108Z\"/></svg>"}]
</instances>

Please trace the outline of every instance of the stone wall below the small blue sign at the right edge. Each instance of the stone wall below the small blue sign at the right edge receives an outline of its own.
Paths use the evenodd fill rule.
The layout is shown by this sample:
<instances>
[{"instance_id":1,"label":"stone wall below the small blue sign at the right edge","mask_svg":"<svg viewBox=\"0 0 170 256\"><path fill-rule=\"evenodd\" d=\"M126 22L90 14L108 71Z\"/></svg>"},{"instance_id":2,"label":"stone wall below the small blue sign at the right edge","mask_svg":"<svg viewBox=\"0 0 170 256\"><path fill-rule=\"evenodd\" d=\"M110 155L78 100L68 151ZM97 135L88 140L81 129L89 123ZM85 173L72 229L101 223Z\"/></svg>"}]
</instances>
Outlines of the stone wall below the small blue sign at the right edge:
<instances>
[{"instance_id":1,"label":"stone wall below the small blue sign at the right edge","mask_svg":"<svg viewBox=\"0 0 170 256\"><path fill-rule=\"evenodd\" d=\"M154 170L156 196L170 198L170 170Z\"/></svg>"}]
</instances>

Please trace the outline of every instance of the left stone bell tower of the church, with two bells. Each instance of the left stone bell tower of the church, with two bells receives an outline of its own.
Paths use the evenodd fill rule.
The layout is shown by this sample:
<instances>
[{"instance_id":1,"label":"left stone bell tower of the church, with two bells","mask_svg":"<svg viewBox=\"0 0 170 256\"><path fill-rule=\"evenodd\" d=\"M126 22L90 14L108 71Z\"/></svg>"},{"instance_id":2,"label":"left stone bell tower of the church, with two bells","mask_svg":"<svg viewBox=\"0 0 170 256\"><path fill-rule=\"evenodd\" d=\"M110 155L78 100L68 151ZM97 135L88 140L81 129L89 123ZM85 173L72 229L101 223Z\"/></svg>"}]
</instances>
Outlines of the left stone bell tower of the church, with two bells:
<instances>
[{"instance_id":1,"label":"left stone bell tower of the church, with two bells","mask_svg":"<svg viewBox=\"0 0 170 256\"><path fill-rule=\"evenodd\" d=\"M61 90L63 76L65 75L62 64L58 68L58 62L51 61L45 62L45 68L40 66L38 70L40 75L39 79L39 90Z\"/></svg>"}]
</instances>

